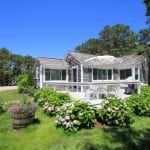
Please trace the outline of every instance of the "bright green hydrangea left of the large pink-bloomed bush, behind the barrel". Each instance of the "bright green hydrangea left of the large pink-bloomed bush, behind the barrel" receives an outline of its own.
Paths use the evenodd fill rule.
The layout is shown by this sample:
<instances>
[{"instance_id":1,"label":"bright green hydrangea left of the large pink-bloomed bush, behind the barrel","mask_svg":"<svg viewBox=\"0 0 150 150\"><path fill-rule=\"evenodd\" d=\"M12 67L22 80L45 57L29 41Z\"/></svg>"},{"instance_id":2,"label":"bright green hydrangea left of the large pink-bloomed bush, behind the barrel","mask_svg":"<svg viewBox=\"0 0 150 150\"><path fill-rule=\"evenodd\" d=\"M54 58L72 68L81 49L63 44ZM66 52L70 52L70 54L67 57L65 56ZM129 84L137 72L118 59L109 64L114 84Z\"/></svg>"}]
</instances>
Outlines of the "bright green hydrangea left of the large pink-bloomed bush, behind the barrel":
<instances>
[{"instance_id":1,"label":"bright green hydrangea left of the large pink-bloomed bush, behind the barrel","mask_svg":"<svg viewBox=\"0 0 150 150\"><path fill-rule=\"evenodd\" d=\"M43 107L44 112L50 116L58 112L59 106L71 102L71 98L68 94L59 93L50 88L38 90L34 95L34 99Z\"/></svg>"}]
</instances>

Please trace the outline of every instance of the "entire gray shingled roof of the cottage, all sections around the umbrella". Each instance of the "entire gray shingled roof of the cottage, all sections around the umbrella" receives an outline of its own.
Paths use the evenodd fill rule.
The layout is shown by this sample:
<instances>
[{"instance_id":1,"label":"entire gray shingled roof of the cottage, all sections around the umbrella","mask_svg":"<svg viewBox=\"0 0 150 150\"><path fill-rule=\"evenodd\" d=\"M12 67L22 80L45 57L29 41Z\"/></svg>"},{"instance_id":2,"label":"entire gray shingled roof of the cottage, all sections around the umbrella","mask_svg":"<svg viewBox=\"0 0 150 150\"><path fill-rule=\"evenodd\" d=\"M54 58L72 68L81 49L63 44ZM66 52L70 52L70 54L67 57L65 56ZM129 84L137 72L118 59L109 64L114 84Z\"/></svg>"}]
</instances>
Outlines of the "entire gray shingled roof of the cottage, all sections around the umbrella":
<instances>
[{"instance_id":1,"label":"entire gray shingled roof of the cottage, all sections around the umbrella","mask_svg":"<svg viewBox=\"0 0 150 150\"><path fill-rule=\"evenodd\" d=\"M84 54L84 53L77 53L77 52L69 52L68 56L73 56L77 61L79 61L84 66L90 66L90 62L86 62L85 60L88 60L92 57L96 57L96 55L90 55L90 54ZM138 66L141 65L141 62L143 60L142 55L127 55L123 57L119 57L122 59L121 63L116 64L108 64L109 67L115 66L115 67L126 67L126 66ZM39 57L38 58L40 64L42 64L45 67L49 68L68 68L68 64L64 59L56 59L56 58L45 58L45 57ZM94 62L94 66L101 66L100 61ZM107 64L105 64L107 66ZM103 66L105 67L105 66Z\"/></svg>"}]
</instances>

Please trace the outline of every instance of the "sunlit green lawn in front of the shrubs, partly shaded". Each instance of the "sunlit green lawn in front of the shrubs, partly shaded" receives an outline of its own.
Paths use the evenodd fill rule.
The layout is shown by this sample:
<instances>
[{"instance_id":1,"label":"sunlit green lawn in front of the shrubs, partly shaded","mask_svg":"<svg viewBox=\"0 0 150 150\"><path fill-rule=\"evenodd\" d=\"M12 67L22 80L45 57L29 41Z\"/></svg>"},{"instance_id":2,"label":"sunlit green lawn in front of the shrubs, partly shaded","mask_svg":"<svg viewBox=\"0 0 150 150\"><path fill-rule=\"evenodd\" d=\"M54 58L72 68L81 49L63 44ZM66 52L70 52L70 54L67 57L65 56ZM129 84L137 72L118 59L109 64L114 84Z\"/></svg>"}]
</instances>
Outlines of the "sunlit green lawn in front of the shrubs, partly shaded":
<instances>
[{"instance_id":1,"label":"sunlit green lawn in front of the shrubs, partly shaded","mask_svg":"<svg viewBox=\"0 0 150 150\"><path fill-rule=\"evenodd\" d=\"M0 92L4 101L21 97L16 90ZM65 133L39 108L39 122L20 131L11 127L9 113L0 115L0 150L148 150L150 118L135 117L131 128L103 128Z\"/></svg>"}]
</instances>

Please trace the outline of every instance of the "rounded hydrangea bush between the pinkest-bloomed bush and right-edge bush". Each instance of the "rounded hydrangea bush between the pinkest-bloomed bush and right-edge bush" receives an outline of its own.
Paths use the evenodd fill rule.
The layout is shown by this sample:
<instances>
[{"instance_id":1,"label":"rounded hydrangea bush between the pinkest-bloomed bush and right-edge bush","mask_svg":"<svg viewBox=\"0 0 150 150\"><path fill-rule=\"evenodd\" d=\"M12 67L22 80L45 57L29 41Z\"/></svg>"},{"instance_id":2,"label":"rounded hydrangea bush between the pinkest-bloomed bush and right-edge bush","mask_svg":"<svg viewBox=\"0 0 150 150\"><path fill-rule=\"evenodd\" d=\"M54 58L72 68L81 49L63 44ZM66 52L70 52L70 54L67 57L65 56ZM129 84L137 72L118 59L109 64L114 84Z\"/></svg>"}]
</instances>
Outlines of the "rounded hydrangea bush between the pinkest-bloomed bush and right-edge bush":
<instances>
[{"instance_id":1,"label":"rounded hydrangea bush between the pinkest-bloomed bush and right-edge bush","mask_svg":"<svg viewBox=\"0 0 150 150\"><path fill-rule=\"evenodd\" d=\"M131 109L116 97L102 102L102 109L97 110L97 119L110 126L129 126L133 122Z\"/></svg>"}]
</instances>

